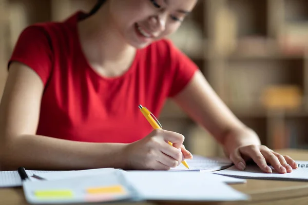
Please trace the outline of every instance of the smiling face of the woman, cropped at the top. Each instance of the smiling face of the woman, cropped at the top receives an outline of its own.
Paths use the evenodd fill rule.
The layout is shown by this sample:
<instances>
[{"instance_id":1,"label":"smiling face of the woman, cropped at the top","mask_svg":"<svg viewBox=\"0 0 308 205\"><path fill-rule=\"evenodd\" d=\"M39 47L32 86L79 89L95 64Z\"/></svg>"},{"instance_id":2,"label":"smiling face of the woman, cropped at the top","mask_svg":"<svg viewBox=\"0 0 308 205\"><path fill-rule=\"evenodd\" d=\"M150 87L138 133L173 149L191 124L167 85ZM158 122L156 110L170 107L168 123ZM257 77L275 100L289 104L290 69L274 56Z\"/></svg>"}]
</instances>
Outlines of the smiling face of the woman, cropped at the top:
<instances>
[{"instance_id":1,"label":"smiling face of the woman, cropped at the top","mask_svg":"<svg viewBox=\"0 0 308 205\"><path fill-rule=\"evenodd\" d=\"M111 22L126 42L143 48L175 32L198 0L109 0Z\"/></svg>"}]
</instances>

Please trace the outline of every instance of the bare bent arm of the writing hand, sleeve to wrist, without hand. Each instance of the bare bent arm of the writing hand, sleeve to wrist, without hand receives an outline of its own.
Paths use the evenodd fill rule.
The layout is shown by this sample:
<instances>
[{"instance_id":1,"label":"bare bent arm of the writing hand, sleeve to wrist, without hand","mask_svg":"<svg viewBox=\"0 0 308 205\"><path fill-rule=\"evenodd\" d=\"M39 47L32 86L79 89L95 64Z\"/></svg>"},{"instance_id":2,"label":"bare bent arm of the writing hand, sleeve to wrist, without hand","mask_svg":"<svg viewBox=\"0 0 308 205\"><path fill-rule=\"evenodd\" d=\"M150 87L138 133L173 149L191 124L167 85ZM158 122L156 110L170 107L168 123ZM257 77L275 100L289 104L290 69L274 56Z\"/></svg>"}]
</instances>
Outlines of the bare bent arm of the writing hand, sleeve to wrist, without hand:
<instances>
[{"instance_id":1,"label":"bare bent arm of the writing hand, sleeve to wrist, without hand","mask_svg":"<svg viewBox=\"0 0 308 205\"><path fill-rule=\"evenodd\" d=\"M35 135L44 85L29 67L13 62L0 104L0 169L123 168L124 144L77 142Z\"/></svg>"}]
</instances>

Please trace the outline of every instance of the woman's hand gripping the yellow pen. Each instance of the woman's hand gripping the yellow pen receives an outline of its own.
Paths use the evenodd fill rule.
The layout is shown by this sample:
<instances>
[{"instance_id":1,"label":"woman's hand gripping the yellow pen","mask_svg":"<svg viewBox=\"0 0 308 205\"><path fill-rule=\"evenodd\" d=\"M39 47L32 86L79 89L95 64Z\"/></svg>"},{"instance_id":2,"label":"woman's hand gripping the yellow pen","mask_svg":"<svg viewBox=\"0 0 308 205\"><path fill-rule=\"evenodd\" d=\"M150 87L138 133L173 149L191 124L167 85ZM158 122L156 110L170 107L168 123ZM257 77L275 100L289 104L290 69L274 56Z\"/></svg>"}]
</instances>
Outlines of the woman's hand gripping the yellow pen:
<instances>
[{"instance_id":1,"label":"woman's hand gripping the yellow pen","mask_svg":"<svg viewBox=\"0 0 308 205\"><path fill-rule=\"evenodd\" d=\"M172 142L170 146L167 142ZM184 136L166 130L153 130L149 135L128 144L124 149L126 168L131 170L169 170L177 167L191 154L182 145ZM181 149L182 148L182 149ZM189 153L189 154L187 154Z\"/></svg>"}]
</instances>

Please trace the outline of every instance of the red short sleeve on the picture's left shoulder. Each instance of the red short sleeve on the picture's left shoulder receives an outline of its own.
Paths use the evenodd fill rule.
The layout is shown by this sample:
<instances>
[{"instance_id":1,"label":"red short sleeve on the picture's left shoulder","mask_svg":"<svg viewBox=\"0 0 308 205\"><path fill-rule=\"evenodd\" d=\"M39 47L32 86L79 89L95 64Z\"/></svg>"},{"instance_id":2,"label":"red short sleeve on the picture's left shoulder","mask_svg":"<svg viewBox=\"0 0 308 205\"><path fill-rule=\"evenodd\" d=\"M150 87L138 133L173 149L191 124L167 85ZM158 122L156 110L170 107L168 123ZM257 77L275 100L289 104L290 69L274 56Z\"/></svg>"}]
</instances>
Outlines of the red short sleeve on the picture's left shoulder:
<instances>
[{"instance_id":1,"label":"red short sleeve on the picture's left shoulder","mask_svg":"<svg viewBox=\"0 0 308 205\"><path fill-rule=\"evenodd\" d=\"M12 61L33 69L46 85L52 70L52 49L50 38L43 27L29 26L23 30L8 61L8 69Z\"/></svg>"}]
</instances>

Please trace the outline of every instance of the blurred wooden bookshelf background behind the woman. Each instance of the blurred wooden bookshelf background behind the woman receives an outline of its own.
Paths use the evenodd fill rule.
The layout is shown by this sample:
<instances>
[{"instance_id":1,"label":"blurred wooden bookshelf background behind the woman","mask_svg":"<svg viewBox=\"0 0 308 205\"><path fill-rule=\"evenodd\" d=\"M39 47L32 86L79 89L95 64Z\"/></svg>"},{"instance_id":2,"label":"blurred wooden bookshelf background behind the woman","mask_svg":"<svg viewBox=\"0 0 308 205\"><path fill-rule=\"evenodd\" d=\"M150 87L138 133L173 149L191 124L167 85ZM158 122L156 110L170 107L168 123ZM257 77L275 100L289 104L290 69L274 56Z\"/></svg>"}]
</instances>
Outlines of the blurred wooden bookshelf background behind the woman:
<instances>
[{"instance_id":1,"label":"blurred wooden bookshelf background behind the woman","mask_svg":"<svg viewBox=\"0 0 308 205\"><path fill-rule=\"evenodd\" d=\"M123 0L125 1L125 0ZM22 30L89 11L95 0L0 0L0 97ZM170 39L227 106L272 149L308 148L308 1L199 0ZM159 117L195 154L221 155L213 137L172 101Z\"/></svg>"}]
</instances>

